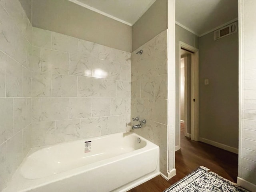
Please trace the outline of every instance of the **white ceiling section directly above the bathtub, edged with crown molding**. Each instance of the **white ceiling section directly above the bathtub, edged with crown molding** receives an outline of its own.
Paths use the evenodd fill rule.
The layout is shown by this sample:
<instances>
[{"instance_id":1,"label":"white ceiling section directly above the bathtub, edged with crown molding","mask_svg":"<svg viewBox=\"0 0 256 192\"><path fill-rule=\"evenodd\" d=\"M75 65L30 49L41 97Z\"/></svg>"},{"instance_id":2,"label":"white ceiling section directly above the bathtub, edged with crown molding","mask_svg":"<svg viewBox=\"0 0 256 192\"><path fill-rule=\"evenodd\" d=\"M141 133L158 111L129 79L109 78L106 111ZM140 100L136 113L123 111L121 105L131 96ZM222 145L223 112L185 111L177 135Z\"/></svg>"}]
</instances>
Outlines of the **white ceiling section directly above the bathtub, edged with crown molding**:
<instances>
[{"instance_id":1,"label":"white ceiling section directly above the bathtub, edged with crown molding","mask_svg":"<svg viewBox=\"0 0 256 192\"><path fill-rule=\"evenodd\" d=\"M132 26L156 0L69 0Z\"/></svg>"}]
</instances>

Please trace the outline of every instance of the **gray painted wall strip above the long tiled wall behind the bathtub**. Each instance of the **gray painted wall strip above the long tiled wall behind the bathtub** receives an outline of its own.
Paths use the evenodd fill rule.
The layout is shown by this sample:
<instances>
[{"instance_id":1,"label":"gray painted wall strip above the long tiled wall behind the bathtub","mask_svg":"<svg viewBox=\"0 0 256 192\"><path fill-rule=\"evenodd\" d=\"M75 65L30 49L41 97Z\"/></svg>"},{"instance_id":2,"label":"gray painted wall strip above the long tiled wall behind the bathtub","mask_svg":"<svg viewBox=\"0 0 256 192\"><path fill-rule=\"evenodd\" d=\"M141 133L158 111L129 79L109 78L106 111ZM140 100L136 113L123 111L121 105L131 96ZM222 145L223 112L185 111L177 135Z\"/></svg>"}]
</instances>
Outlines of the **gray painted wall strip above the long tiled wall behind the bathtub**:
<instances>
[{"instance_id":1,"label":"gray painted wall strip above the long tiled wall behind the bathtub","mask_svg":"<svg viewBox=\"0 0 256 192\"><path fill-rule=\"evenodd\" d=\"M32 25L131 52L131 26L67 0L33 0Z\"/></svg>"}]
</instances>

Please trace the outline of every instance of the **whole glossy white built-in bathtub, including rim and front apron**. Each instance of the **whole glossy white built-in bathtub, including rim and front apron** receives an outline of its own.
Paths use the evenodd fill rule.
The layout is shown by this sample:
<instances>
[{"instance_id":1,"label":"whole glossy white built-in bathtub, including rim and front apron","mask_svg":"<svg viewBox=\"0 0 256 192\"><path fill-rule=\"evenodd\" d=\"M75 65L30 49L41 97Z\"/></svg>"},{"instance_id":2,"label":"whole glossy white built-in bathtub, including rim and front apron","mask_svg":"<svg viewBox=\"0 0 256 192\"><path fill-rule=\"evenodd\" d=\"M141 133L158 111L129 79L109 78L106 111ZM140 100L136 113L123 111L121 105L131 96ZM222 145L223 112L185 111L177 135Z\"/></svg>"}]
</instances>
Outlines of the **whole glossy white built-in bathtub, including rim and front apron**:
<instances>
[{"instance_id":1,"label":"whole glossy white built-in bathtub, including rim and front apron","mask_svg":"<svg viewBox=\"0 0 256 192\"><path fill-rule=\"evenodd\" d=\"M118 133L30 152L2 192L125 192L158 174L159 147Z\"/></svg>"}]
</instances>

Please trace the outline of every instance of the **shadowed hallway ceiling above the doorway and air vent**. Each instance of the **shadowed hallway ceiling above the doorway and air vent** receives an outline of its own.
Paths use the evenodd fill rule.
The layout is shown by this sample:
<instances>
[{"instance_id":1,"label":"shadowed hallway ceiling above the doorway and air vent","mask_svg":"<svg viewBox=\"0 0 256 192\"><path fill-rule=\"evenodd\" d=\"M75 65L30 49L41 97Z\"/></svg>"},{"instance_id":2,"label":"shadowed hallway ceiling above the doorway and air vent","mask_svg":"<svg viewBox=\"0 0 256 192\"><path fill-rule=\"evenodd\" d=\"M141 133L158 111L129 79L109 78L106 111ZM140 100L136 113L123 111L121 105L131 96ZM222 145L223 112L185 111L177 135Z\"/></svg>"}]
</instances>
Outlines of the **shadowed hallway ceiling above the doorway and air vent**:
<instances>
[{"instance_id":1,"label":"shadowed hallway ceiling above the doorway and air vent","mask_svg":"<svg viewBox=\"0 0 256 192\"><path fill-rule=\"evenodd\" d=\"M237 18L237 0L176 0L176 24L198 36Z\"/></svg>"}]
</instances>

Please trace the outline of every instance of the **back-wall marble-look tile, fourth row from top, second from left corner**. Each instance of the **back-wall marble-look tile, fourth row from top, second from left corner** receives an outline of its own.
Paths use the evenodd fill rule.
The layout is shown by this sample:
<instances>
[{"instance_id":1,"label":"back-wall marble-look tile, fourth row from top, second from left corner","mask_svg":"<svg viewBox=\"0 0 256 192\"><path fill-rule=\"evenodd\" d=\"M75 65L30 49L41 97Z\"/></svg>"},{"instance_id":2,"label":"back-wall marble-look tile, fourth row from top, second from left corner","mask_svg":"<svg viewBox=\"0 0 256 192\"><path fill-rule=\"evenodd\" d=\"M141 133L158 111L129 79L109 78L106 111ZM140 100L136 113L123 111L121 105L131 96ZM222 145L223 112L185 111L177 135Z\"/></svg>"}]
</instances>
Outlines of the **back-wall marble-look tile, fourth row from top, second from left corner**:
<instances>
[{"instance_id":1,"label":"back-wall marble-look tile, fourth row from top, second from left corner","mask_svg":"<svg viewBox=\"0 0 256 192\"><path fill-rule=\"evenodd\" d=\"M68 98L42 98L42 121L68 119Z\"/></svg>"}]
</instances>

